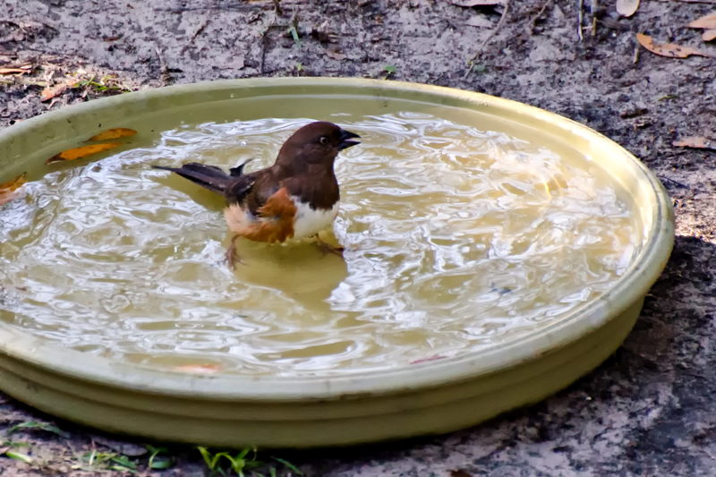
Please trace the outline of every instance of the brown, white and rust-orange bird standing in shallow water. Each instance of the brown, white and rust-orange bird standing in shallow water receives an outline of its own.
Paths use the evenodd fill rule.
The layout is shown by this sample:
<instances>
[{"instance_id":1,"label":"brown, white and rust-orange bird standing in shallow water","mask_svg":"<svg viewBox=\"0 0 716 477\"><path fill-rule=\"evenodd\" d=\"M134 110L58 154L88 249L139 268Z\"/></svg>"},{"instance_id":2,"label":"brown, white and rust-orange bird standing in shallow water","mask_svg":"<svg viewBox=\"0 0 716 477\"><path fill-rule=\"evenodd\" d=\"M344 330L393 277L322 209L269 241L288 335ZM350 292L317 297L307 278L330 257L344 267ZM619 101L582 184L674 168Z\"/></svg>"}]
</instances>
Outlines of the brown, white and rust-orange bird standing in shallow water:
<instances>
[{"instance_id":1,"label":"brown, white and rust-orange bird standing in shallow water","mask_svg":"<svg viewBox=\"0 0 716 477\"><path fill-rule=\"evenodd\" d=\"M338 214L340 188L334 162L340 151L360 144L361 136L336 124L317 121L294 132L278 151L272 166L251 173L243 167L229 169L190 162L181 167L153 166L171 171L200 186L224 195L226 225L233 233L226 250L229 268L241 261L235 242L284 243L315 237L324 254L341 255L343 249L320 240L319 232ZM251 159L249 159L251 160Z\"/></svg>"}]
</instances>

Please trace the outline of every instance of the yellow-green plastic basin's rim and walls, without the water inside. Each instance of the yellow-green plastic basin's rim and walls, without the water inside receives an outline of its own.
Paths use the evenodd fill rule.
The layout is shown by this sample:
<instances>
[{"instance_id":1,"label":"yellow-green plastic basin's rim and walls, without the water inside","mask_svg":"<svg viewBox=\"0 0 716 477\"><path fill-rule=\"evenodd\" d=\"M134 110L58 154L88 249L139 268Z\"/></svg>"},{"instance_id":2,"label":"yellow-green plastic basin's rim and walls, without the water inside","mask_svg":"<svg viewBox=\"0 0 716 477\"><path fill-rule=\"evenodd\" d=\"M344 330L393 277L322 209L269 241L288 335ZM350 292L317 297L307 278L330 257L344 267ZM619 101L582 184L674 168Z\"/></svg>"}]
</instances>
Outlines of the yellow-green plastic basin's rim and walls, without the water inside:
<instances>
[{"instance_id":1,"label":"yellow-green plastic basin's rim and walls, without the water inside","mask_svg":"<svg viewBox=\"0 0 716 477\"><path fill-rule=\"evenodd\" d=\"M283 98L276 101L277 97ZM270 106L262 99L274 98ZM308 101L310 99L311 101ZM391 371L337 377L191 375L112 362L0 321L0 388L38 409L102 430L212 446L316 447L458 430L537 402L594 369L634 326L674 240L661 183L618 144L573 121L507 99L393 81L280 78L204 82L70 106L0 131L0 183L96 132L185 108L235 103L236 120L330 119L425 105L451 108L485 129L598 158L632 195L644 245L605 294L516 342ZM303 106L296 106L300 103ZM315 108L306 110L306 104ZM101 126L98 126L101 124ZM98 129L101 127L101 129Z\"/></svg>"}]
</instances>

